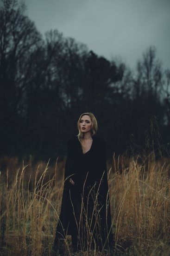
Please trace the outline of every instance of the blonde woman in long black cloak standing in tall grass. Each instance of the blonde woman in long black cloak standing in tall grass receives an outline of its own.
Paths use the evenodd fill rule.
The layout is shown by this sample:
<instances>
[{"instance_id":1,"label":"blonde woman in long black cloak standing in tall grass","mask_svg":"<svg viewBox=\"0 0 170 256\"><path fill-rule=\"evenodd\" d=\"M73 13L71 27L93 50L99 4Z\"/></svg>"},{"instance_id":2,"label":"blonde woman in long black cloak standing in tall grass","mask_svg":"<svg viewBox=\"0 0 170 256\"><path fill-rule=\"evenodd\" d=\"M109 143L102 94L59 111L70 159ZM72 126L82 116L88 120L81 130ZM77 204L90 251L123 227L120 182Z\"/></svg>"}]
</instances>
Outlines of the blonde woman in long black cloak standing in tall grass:
<instances>
[{"instance_id":1,"label":"blonde woman in long black cloak standing in tall grass","mask_svg":"<svg viewBox=\"0 0 170 256\"><path fill-rule=\"evenodd\" d=\"M55 249L60 239L71 235L74 251L110 249L113 246L107 183L106 145L96 135L98 126L92 113L83 113L79 133L67 142L61 212Z\"/></svg>"}]
</instances>

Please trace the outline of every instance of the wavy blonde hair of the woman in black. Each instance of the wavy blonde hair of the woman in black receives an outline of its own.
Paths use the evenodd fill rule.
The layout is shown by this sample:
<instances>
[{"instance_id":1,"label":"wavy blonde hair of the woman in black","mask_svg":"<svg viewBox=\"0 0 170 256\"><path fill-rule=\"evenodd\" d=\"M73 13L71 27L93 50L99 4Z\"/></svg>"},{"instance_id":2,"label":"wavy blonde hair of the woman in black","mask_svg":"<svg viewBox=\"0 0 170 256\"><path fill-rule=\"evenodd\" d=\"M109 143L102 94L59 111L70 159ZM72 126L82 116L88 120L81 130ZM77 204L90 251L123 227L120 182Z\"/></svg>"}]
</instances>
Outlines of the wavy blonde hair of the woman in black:
<instances>
[{"instance_id":1,"label":"wavy blonde hair of the woman in black","mask_svg":"<svg viewBox=\"0 0 170 256\"><path fill-rule=\"evenodd\" d=\"M82 118L83 115L88 115L92 121L92 127L91 127L91 135L93 136L96 132L97 132L97 129L98 129L98 125L97 125L97 120L94 116L93 113L91 112L86 112L86 113L83 113L80 117L79 117L79 120L77 122L77 128L79 130L79 133L78 135L76 135L78 137L78 140L80 142L82 142L83 138L84 138L84 133L82 133L81 129L80 129L80 120Z\"/></svg>"}]
</instances>

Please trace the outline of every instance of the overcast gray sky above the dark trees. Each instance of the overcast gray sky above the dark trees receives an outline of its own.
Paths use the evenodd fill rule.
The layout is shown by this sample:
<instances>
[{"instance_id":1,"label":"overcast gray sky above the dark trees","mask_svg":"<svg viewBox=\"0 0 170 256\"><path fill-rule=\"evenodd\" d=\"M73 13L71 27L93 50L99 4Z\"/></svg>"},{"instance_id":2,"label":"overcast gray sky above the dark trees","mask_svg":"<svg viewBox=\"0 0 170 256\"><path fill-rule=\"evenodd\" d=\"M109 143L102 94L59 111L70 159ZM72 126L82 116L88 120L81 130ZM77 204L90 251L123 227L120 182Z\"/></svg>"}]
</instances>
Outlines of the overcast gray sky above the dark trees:
<instances>
[{"instance_id":1,"label":"overcast gray sky above the dark trees","mask_svg":"<svg viewBox=\"0 0 170 256\"><path fill-rule=\"evenodd\" d=\"M38 30L58 29L108 60L134 68L147 47L170 68L170 0L25 0Z\"/></svg>"}]
</instances>

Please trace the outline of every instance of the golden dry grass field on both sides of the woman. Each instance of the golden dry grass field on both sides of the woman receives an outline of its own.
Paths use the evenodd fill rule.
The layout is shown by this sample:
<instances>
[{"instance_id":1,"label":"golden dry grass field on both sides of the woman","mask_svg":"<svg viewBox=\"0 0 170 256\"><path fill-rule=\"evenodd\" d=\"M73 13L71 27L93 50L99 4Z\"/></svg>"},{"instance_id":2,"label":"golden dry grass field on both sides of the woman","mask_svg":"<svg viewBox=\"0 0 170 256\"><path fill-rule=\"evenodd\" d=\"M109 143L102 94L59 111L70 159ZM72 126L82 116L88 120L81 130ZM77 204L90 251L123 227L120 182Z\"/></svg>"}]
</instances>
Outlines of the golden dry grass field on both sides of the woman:
<instances>
[{"instance_id":1,"label":"golden dry grass field on both sides of the woman","mask_svg":"<svg viewBox=\"0 0 170 256\"><path fill-rule=\"evenodd\" d=\"M170 161L138 160L130 159L119 172L119 161L113 158L108 172L115 254L169 255ZM49 166L29 163L1 172L1 255L52 255L64 164ZM70 244L68 236L67 255L72 254ZM97 251L82 254L98 255Z\"/></svg>"}]
</instances>

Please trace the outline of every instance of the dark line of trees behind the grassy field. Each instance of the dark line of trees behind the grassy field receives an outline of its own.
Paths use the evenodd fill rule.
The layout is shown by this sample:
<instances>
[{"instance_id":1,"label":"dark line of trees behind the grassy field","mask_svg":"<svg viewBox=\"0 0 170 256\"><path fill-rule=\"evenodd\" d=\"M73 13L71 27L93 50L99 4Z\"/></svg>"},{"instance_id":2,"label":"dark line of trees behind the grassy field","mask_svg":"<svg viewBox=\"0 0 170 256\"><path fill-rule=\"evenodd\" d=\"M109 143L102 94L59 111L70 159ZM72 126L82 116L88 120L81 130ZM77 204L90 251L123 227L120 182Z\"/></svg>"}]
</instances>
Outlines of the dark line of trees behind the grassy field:
<instances>
[{"instance_id":1,"label":"dark line of trees behind the grassy field","mask_svg":"<svg viewBox=\"0 0 170 256\"><path fill-rule=\"evenodd\" d=\"M154 134L153 116L168 143L170 70L156 52L146 49L132 71L57 30L41 35L23 3L0 0L0 155L65 155L87 111L97 117L109 156L132 141L143 147Z\"/></svg>"}]
</instances>

